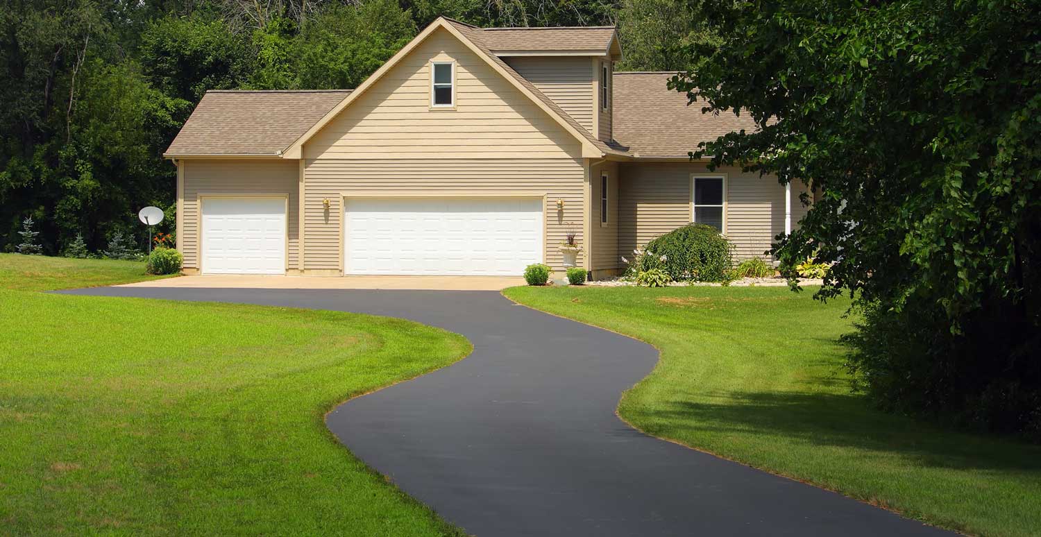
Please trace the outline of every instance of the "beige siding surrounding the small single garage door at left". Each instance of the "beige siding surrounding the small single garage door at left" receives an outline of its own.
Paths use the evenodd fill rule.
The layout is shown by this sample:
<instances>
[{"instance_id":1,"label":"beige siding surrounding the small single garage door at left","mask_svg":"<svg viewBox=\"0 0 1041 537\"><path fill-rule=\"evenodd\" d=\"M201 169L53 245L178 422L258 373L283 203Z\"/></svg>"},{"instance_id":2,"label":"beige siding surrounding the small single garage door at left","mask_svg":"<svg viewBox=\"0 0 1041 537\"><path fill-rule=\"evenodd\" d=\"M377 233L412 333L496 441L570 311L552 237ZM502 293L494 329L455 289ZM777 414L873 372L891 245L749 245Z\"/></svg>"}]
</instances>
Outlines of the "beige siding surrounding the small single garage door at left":
<instances>
[{"instance_id":1,"label":"beige siding surrounding the small single garage door at left","mask_svg":"<svg viewBox=\"0 0 1041 537\"><path fill-rule=\"evenodd\" d=\"M180 160L184 175L184 204L181 208L180 236L177 237L184 266L199 268L199 196L206 194L288 197L288 248L290 268L298 266L298 197L300 168L298 160Z\"/></svg>"}]
</instances>

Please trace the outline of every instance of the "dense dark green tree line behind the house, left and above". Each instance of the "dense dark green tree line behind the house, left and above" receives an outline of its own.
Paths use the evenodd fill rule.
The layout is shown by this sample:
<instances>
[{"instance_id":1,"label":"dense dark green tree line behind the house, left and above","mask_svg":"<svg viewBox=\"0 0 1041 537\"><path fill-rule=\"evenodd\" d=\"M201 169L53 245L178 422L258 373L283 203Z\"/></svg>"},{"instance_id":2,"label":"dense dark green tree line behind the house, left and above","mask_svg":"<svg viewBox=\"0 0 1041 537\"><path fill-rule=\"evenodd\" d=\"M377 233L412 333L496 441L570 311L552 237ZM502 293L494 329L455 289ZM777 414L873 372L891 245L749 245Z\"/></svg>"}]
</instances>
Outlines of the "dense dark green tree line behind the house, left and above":
<instances>
[{"instance_id":1,"label":"dense dark green tree line behind the house, left and above","mask_svg":"<svg viewBox=\"0 0 1041 537\"><path fill-rule=\"evenodd\" d=\"M669 0L4 0L0 251L31 216L44 251L81 233L144 245L135 212L171 216L161 152L207 90L358 85L439 15L482 26L619 23L628 68L679 68L692 5Z\"/></svg>"}]
</instances>

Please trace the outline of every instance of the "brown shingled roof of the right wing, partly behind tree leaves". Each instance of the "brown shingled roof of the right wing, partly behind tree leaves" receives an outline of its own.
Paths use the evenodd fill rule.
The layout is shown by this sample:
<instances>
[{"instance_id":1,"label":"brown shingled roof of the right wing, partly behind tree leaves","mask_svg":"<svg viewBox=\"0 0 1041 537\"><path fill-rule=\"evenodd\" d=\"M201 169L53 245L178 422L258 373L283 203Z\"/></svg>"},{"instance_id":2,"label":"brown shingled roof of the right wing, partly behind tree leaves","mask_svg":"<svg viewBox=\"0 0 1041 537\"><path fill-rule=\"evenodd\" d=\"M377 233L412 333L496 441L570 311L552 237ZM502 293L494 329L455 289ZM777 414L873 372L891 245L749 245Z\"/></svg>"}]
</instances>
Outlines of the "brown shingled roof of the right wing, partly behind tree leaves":
<instances>
[{"instance_id":1,"label":"brown shingled roof of the right wing, partly behind tree leaves","mask_svg":"<svg viewBox=\"0 0 1041 537\"><path fill-rule=\"evenodd\" d=\"M614 137L637 157L686 157L701 142L729 132L758 129L747 113L703 113L705 103L687 104L687 95L668 90L676 72L616 72L612 98Z\"/></svg>"}]
</instances>

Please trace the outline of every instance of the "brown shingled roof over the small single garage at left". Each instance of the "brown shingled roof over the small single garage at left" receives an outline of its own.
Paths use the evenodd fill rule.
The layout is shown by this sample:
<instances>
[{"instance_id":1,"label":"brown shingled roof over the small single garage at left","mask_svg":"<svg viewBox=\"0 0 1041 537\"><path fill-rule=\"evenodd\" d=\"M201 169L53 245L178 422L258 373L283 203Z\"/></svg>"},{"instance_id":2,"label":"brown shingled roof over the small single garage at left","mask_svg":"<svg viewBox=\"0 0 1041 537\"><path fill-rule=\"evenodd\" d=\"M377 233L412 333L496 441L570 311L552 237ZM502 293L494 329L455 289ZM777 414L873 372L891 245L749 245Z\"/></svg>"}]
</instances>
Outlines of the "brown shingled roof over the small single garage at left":
<instances>
[{"instance_id":1,"label":"brown shingled roof over the small single garage at left","mask_svg":"<svg viewBox=\"0 0 1041 537\"><path fill-rule=\"evenodd\" d=\"M210 90L163 156L278 156L350 93Z\"/></svg>"}]
</instances>

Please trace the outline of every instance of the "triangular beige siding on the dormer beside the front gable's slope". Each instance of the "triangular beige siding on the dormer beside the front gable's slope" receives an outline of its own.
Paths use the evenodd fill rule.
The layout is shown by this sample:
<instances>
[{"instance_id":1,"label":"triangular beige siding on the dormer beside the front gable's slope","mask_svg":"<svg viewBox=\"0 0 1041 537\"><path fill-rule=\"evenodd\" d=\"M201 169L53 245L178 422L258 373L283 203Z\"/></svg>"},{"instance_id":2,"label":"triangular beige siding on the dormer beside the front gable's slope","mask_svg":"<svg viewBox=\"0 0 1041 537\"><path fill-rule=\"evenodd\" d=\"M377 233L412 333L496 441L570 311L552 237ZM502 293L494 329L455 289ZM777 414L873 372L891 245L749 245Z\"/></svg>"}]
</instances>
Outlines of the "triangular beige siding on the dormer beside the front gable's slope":
<instances>
[{"instance_id":1,"label":"triangular beige siding on the dormer beside the front gable's slope","mask_svg":"<svg viewBox=\"0 0 1041 537\"><path fill-rule=\"evenodd\" d=\"M588 58L575 56L520 56L505 61L520 76L535 84L553 102L592 133L595 106L592 73Z\"/></svg>"}]
</instances>

